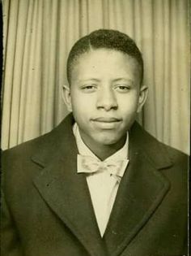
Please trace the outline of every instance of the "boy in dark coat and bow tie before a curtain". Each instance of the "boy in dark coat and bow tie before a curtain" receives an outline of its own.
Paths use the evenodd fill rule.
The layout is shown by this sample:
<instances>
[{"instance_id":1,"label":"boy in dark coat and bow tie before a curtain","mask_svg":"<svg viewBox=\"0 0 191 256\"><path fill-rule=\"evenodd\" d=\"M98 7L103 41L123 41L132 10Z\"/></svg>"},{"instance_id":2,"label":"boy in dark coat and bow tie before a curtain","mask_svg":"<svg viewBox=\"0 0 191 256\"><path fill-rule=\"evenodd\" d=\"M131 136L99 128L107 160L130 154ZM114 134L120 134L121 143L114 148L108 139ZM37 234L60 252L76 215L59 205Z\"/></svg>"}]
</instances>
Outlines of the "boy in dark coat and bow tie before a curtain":
<instances>
[{"instance_id":1,"label":"boy in dark coat and bow tie before a curtain","mask_svg":"<svg viewBox=\"0 0 191 256\"><path fill-rule=\"evenodd\" d=\"M2 256L187 254L187 157L135 122L142 54L98 30L73 46L57 128L7 150Z\"/></svg>"}]
</instances>

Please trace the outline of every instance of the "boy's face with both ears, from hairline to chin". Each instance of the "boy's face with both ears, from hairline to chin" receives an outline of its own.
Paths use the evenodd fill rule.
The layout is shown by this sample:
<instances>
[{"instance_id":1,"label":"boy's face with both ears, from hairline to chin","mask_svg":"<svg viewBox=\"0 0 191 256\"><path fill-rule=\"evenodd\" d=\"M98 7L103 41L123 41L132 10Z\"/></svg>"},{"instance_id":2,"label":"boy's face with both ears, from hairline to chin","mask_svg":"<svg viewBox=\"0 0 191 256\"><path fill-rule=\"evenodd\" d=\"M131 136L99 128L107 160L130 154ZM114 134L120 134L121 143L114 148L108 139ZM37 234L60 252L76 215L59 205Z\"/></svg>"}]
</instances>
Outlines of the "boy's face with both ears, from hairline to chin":
<instances>
[{"instance_id":1,"label":"boy's face with both ears, from hairline to chin","mask_svg":"<svg viewBox=\"0 0 191 256\"><path fill-rule=\"evenodd\" d=\"M117 50L79 56L65 101L87 145L115 145L125 137L147 94L136 61Z\"/></svg>"}]
</instances>

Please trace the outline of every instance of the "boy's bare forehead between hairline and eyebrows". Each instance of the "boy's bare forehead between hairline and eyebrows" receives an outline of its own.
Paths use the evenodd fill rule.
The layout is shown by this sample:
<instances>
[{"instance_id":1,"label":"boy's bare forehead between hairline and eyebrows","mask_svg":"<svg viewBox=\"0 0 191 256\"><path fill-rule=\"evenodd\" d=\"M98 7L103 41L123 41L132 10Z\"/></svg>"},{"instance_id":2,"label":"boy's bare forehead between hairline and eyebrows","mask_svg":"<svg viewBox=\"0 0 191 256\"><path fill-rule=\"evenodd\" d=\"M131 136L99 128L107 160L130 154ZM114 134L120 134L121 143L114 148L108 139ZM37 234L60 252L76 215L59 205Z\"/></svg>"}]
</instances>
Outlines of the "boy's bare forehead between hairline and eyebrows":
<instances>
[{"instance_id":1,"label":"boy's bare forehead between hairline and eyebrows","mask_svg":"<svg viewBox=\"0 0 191 256\"><path fill-rule=\"evenodd\" d=\"M80 54L72 65L71 78L104 78L130 76L130 79L140 78L141 68L138 61L128 54L118 50L97 49ZM100 77L96 77L100 76Z\"/></svg>"}]
</instances>

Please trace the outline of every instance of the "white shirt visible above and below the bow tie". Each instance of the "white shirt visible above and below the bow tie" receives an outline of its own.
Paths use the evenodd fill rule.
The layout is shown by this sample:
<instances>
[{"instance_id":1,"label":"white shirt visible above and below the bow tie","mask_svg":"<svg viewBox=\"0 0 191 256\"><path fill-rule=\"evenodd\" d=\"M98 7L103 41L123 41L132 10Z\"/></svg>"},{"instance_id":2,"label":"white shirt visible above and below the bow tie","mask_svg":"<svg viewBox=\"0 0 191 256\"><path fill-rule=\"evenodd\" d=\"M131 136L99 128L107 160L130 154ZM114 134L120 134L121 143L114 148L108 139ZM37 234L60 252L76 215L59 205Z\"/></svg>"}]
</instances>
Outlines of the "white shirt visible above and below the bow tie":
<instances>
[{"instance_id":1,"label":"white shirt visible above and below the bow tie","mask_svg":"<svg viewBox=\"0 0 191 256\"><path fill-rule=\"evenodd\" d=\"M92 158L100 160L83 142L77 124L74 124L73 132L79 150L79 154L91 156ZM128 142L129 133L127 132L125 145L115 154L112 154L111 156L104 160L112 160L117 162L119 159L125 159L126 163L125 165L123 165L123 170L120 171L121 173L124 173L125 168L129 162L129 160L127 160L129 144ZM109 174L108 171L99 171L87 174L86 179L88 189L91 195L91 202L96 215L96 220L98 223L98 227L100 229L100 235L104 236L104 232L108 224L108 219L112 211L112 206L117 196L117 189L121 181L121 176L112 176L111 174Z\"/></svg>"}]
</instances>

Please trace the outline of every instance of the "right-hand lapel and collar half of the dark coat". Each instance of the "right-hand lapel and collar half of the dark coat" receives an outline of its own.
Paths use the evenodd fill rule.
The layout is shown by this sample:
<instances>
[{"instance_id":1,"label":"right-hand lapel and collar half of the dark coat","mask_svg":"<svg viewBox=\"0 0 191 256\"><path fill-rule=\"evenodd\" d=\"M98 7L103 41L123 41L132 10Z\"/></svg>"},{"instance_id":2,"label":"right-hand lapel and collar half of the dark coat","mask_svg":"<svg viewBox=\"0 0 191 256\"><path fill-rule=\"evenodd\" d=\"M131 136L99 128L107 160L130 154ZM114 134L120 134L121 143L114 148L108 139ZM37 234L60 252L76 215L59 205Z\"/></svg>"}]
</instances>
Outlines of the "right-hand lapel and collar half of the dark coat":
<instances>
[{"instance_id":1,"label":"right-hand lapel and collar half of the dark coat","mask_svg":"<svg viewBox=\"0 0 191 256\"><path fill-rule=\"evenodd\" d=\"M168 180L159 169L170 167L172 163L162 148L154 148L155 139L151 137L148 143L146 137L142 128L135 124L129 135L129 166L121 180L104 234L109 255L121 254L169 189Z\"/></svg>"}]
</instances>

